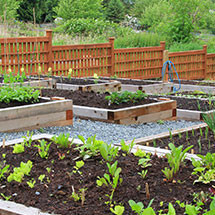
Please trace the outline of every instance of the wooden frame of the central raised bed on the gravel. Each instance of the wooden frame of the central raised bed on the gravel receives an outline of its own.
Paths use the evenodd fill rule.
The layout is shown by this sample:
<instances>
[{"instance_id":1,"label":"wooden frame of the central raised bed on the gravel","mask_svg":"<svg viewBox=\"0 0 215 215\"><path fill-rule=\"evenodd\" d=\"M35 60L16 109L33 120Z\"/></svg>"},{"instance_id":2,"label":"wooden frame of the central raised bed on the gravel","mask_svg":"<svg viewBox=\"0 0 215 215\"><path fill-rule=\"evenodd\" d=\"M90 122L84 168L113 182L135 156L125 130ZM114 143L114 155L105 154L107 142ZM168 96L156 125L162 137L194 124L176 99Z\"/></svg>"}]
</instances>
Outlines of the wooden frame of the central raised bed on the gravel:
<instances>
[{"instance_id":1,"label":"wooden frame of the central raised bed on the gravel","mask_svg":"<svg viewBox=\"0 0 215 215\"><path fill-rule=\"evenodd\" d=\"M172 119L176 116L176 101L159 101L116 110L74 105L73 112L75 116L84 119L125 125L138 124Z\"/></svg>"}]
</instances>

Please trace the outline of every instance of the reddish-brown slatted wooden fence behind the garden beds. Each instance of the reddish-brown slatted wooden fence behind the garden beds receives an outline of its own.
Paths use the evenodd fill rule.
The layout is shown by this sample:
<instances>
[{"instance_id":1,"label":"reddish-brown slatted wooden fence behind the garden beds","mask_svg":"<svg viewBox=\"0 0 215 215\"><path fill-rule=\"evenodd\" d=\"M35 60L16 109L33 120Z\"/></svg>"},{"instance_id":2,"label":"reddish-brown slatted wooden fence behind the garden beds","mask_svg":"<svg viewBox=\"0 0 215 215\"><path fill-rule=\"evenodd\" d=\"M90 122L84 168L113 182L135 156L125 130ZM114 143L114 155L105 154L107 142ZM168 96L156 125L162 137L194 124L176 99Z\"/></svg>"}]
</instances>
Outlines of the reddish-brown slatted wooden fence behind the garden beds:
<instances>
[{"instance_id":1,"label":"reddish-brown slatted wooden fence behind the garden beds","mask_svg":"<svg viewBox=\"0 0 215 215\"><path fill-rule=\"evenodd\" d=\"M181 79L215 78L215 54L202 50L168 53L165 42L157 47L114 49L114 38L108 43L86 45L52 45L52 31L44 37L0 39L0 72L28 75L52 74L87 77L99 76L151 79L160 78L162 65L171 60ZM174 74L174 77L175 74Z\"/></svg>"}]
</instances>

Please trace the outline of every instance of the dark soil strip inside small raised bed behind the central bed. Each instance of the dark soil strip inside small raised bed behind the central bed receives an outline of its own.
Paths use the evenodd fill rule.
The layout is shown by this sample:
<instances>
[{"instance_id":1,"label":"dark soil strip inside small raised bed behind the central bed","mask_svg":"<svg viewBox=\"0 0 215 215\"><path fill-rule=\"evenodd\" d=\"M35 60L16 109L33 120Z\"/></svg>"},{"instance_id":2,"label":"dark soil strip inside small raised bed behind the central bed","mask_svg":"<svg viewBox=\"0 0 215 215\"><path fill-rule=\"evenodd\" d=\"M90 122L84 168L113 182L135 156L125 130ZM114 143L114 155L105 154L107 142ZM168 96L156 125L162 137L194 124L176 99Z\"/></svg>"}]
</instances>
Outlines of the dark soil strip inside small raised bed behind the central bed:
<instances>
[{"instance_id":1,"label":"dark soil strip inside small raised bed behind the central bed","mask_svg":"<svg viewBox=\"0 0 215 215\"><path fill-rule=\"evenodd\" d=\"M64 78L64 77L54 77L54 79L57 81L57 83L62 83L62 84L73 84L73 85L89 85L89 84L100 84L104 83L102 81L99 81L97 79L94 80L89 80L87 78Z\"/></svg>"}]
</instances>

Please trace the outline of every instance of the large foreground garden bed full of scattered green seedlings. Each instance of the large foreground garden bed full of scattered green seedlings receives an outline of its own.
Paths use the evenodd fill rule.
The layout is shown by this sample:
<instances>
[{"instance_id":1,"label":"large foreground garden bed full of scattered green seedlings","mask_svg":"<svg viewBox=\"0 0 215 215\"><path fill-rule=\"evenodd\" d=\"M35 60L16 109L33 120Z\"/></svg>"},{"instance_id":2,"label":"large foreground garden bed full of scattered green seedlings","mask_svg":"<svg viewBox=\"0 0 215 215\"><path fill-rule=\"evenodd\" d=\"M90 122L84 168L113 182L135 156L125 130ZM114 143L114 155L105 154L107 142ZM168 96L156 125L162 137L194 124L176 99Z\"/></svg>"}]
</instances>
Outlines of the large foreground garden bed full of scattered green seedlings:
<instances>
[{"instance_id":1,"label":"large foreground garden bed full of scattered green seedlings","mask_svg":"<svg viewBox=\"0 0 215 215\"><path fill-rule=\"evenodd\" d=\"M108 147L93 137L86 144L81 137L81 141L72 142L66 135L55 137L53 141L49 140L52 138L50 135L43 140L44 136L37 137L39 141L28 136L21 143L20 140L2 143L5 147L1 147L0 151L4 156L0 160L9 171L2 174L0 192L1 198L9 201L0 201L1 214L48 214L41 210L61 215L113 214L118 209L121 214L127 215L137 212L137 202L148 205L151 199L152 205L148 209L142 206L141 211L155 215L158 211L163 214L161 210L166 213L169 209L176 211L176 214L184 214L187 209L176 202L186 204L186 208L197 207L201 199L195 201L196 196L202 193L206 199L198 212L214 212L214 201L210 198L213 194L209 192L209 189L213 191L211 184L196 182L200 177L192 174L196 172L195 168L189 160L184 160L182 154L177 174L168 179L165 175L169 168L167 159L146 154L142 146L130 144L127 148L122 142L119 151L120 147ZM38 150L42 143L45 154ZM24 151L20 151L20 146ZM102 152L104 147L108 147L107 153ZM157 152L159 149L154 149L154 153ZM174 157L173 150L166 150L166 153ZM13 177L15 173L22 172L23 167L25 171L20 175L20 180ZM105 175L109 175L109 182ZM178 190L183 190L183 195Z\"/></svg>"}]
</instances>

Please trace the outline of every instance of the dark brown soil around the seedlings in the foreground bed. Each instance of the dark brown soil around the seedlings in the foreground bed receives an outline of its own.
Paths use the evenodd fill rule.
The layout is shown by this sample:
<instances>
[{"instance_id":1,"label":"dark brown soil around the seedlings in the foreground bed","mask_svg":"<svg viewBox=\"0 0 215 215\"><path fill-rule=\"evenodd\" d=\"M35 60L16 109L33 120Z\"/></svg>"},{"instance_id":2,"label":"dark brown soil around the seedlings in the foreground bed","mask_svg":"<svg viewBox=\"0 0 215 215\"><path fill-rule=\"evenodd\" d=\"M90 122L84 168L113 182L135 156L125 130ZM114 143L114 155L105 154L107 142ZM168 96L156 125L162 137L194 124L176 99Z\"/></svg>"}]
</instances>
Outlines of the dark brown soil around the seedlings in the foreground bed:
<instances>
[{"instance_id":1,"label":"dark brown soil around the seedlings in the foreground bed","mask_svg":"<svg viewBox=\"0 0 215 215\"><path fill-rule=\"evenodd\" d=\"M33 143L33 145L36 143ZM8 183L6 179L1 181L0 193L5 196L11 196L10 201L25 204L27 206L37 207L46 212L53 212L61 215L105 215L112 214L109 206L105 204L108 201L106 194L110 194L110 187L96 185L97 177L103 177L104 173L108 173L108 169L101 156L93 157L84 161L84 166L80 169L82 174L72 173L75 161L79 153L72 149L60 149L52 144L49 149L48 159L42 159L38 155L38 149L35 147L26 148L24 153L13 154L11 147L1 148L0 153L6 154L6 164L10 164L10 171L13 167L20 166L20 162L33 162L33 168L29 176L25 176L22 183ZM60 155L65 155L61 160ZM80 160L80 159L79 159ZM177 176L174 177L175 183L165 182L162 169L168 167L166 159L151 157L151 165L147 167L148 173L143 179L138 172L143 169L138 166L139 158L128 155L122 156L121 153L117 157L118 167L122 168L120 177L123 179L122 184L117 186L113 195L113 202L125 207L124 215L134 214L128 204L129 200L143 202L147 206L151 199L154 199L152 207L159 211L163 209L167 213L168 202L172 202L177 214L184 214L183 209L175 203L176 200L185 203L192 203L192 194L205 192L211 184L196 183L193 181L196 176L191 175L192 165L190 161L180 168ZM2 156L0 157L3 163ZM77 161L77 160L76 160ZM46 168L51 168L48 173ZM38 177L45 174L45 179L41 183ZM6 177L9 174L6 174ZM27 181L36 180L34 188L27 185ZM145 186L149 184L150 197L146 198ZM85 201L83 206L81 201L74 201L71 197L74 187L75 192L79 193L79 189L86 188ZM0 198L3 197L0 195ZM209 198L208 198L209 199ZM160 202L163 206L160 207ZM209 208L209 201L203 206L203 209Z\"/></svg>"}]
</instances>

